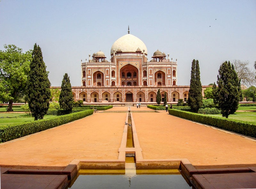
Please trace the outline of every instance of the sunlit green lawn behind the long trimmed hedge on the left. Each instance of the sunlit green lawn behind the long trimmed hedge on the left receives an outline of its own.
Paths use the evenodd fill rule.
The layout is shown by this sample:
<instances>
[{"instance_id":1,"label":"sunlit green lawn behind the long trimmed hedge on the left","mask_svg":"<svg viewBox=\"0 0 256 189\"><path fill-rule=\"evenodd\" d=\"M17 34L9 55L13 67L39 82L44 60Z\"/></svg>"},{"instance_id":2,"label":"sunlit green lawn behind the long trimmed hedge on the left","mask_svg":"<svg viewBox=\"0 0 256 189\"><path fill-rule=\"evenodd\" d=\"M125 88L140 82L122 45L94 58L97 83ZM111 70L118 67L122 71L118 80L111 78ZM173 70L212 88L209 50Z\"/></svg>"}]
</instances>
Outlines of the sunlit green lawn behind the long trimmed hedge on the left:
<instances>
[{"instance_id":1,"label":"sunlit green lawn behind the long trimmed hedge on the left","mask_svg":"<svg viewBox=\"0 0 256 189\"><path fill-rule=\"evenodd\" d=\"M45 115L44 119L55 117L56 115ZM32 116L26 113L0 113L0 126L20 123L25 121L34 121Z\"/></svg>"}]
</instances>

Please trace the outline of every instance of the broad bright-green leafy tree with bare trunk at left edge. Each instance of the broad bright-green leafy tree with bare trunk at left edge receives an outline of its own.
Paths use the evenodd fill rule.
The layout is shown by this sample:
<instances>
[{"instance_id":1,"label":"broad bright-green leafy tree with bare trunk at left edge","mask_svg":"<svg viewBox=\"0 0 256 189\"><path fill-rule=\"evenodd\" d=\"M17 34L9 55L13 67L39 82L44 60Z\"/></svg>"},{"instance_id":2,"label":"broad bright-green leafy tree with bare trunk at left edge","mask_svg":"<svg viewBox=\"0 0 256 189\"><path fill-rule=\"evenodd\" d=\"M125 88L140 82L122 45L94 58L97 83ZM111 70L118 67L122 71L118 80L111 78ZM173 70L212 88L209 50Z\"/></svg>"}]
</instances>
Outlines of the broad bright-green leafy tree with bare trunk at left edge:
<instances>
[{"instance_id":1,"label":"broad bright-green leafy tree with bare trunk at left edge","mask_svg":"<svg viewBox=\"0 0 256 189\"><path fill-rule=\"evenodd\" d=\"M23 98L31 60L31 50L22 53L15 45L4 45L0 50L0 100L9 102L7 112L12 112L13 102Z\"/></svg>"}]
</instances>

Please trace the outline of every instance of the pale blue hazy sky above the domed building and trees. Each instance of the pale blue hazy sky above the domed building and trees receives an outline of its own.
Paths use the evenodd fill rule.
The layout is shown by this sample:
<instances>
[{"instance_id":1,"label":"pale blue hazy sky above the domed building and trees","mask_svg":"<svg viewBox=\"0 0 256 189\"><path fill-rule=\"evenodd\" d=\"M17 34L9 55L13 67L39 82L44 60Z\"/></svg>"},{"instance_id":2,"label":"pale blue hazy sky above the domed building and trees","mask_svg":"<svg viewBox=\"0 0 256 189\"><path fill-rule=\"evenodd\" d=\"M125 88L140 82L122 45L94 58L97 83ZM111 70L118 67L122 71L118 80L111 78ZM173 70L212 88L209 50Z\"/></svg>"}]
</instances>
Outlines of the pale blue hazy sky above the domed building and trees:
<instances>
[{"instance_id":1,"label":"pale blue hazy sky above the domed building and trees","mask_svg":"<svg viewBox=\"0 0 256 189\"><path fill-rule=\"evenodd\" d=\"M68 73L81 86L81 59L130 33L148 49L177 58L177 84L189 85L191 62L199 60L201 83L216 82L224 61L256 61L256 0L0 1L0 49L14 44L42 49L52 86ZM211 27L210 27L211 26Z\"/></svg>"}]
</instances>

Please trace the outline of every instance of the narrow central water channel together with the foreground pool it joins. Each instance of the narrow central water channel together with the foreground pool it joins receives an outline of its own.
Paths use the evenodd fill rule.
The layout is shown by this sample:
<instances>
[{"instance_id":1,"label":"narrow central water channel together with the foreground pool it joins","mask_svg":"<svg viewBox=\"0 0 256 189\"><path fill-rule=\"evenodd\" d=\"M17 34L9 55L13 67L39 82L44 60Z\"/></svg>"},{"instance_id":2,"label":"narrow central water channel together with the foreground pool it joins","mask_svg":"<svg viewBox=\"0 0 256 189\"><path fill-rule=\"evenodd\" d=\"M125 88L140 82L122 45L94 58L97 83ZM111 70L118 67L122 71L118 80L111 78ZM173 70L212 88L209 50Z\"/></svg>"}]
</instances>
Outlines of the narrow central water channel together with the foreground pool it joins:
<instances>
[{"instance_id":1,"label":"narrow central water channel together with the foreground pool it joins","mask_svg":"<svg viewBox=\"0 0 256 189\"><path fill-rule=\"evenodd\" d=\"M131 114L128 114L126 148L133 148ZM135 154L126 154L123 170L79 170L71 189L191 189L178 169L136 170Z\"/></svg>"}]
</instances>

